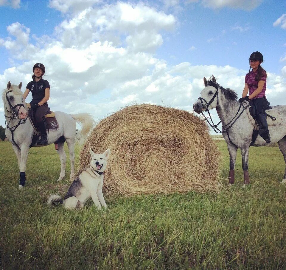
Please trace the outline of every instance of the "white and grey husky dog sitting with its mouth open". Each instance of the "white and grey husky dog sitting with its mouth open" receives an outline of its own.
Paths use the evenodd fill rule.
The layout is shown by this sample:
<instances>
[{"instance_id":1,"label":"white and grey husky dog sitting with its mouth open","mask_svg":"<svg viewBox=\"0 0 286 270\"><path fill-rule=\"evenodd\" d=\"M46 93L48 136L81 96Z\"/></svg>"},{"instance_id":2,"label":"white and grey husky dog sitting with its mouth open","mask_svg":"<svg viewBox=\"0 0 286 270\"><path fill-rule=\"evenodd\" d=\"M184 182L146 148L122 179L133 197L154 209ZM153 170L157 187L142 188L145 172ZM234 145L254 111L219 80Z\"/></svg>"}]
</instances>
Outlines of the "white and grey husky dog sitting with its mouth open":
<instances>
[{"instance_id":1,"label":"white and grey husky dog sitting with its mouth open","mask_svg":"<svg viewBox=\"0 0 286 270\"><path fill-rule=\"evenodd\" d=\"M54 194L49 197L47 204L52 207L63 204L66 209L83 208L85 202L91 197L96 207L100 210L101 205L106 207L102 194L103 172L106 169L110 150L103 154L94 154L89 149L91 161L90 166L83 169L79 176L72 182L64 199Z\"/></svg>"}]
</instances>

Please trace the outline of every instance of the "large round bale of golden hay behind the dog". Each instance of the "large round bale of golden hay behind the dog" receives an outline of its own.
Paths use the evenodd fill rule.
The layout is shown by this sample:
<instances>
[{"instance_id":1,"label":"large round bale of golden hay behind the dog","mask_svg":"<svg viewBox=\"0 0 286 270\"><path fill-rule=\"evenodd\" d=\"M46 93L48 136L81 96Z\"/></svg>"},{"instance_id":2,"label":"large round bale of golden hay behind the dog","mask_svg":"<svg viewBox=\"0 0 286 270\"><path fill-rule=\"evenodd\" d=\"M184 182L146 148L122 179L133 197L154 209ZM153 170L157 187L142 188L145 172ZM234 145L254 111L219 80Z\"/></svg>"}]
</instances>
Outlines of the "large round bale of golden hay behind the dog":
<instances>
[{"instance_id":1,"label":"large round bale of golden hay behind the dog","mask_svg":"<svg viewBox=\"0 0 286 270\"><path fill-rule=\"evenodd\" d=\"M80 172L95 153L111 150L105 194L217 191L220 153L205 121L184 110L141 104L97 124L80 152Z\"/></svg>"}]
</instances>

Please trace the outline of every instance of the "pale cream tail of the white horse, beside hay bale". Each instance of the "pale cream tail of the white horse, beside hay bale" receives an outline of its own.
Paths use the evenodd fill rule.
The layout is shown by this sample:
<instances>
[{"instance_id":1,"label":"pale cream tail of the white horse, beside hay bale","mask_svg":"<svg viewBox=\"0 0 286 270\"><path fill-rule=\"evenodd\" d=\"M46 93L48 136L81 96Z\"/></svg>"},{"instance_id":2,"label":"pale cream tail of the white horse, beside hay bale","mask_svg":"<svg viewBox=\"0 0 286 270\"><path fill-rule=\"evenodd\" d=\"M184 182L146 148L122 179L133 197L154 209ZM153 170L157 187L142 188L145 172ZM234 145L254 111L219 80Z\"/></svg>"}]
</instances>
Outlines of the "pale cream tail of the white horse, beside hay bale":
<instances>
[{"instance_id":1,"label":"pale cream tail of the white horse, beside hay bale","mask_svg":"<svg viewBox=\"0 0 286 270\"><path fill-rule=\"evenodd\" d=\"M95 125L94 118L89 113L72 114L71 117L82 126L81 130L77 132L77 135L75 136L75 141L82 144Z\"/></svg>"}]
</instances>

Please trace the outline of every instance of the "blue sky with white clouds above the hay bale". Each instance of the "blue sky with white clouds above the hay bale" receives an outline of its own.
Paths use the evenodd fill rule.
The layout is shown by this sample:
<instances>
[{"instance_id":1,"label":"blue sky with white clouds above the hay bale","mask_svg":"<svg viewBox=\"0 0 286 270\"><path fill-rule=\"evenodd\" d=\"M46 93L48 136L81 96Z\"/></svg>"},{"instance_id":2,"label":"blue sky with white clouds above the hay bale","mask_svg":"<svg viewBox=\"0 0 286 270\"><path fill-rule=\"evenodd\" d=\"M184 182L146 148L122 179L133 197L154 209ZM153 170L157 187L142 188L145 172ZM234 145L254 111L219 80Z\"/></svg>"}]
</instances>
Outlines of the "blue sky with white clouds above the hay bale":
<instances>
[{"instance_id":1,"label":"blue sky with white clouds above the hay bale","mask_svg":"<svg viewBox=\"0 0 286 270\"><path fill-rule=\"evenodd\" d=\"M286 104L285 0L0 0L0 89L24 92L40 62L51 110L97 121L142 103L192 113L204 76L240 97L254 51Z\"/></svg>"}]
</instances>

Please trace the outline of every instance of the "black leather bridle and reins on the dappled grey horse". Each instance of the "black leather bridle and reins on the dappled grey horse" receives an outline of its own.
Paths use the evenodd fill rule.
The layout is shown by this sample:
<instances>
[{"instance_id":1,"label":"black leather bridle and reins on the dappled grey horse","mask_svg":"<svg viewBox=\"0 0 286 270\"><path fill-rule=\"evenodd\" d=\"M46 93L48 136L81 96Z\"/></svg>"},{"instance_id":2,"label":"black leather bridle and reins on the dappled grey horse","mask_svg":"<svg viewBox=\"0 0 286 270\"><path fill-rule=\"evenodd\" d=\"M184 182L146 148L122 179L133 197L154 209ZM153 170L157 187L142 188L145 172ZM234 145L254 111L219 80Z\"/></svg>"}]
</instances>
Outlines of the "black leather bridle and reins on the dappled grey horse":
<instances>
[{"instance_id":1,"label":"black leather bridle and reins on the dappled grey horse","mask_svg":"<svg viewBox=\"0 0 286 270\"><path fill-rule=\"evenodd\" d=\"M209 105L212 104L212 102L215 100L215 97L217 96L217 106L219 105L218 104L218 89L220 88L219 85L217 85L216 83L212 82L212 81L208 81L207 84L205 86L212 86L216 89L215 91L215 94L213 95L212 99L207 102L204 98L202 97L199 97L198 100L200 100L200 102L202 103L203 105L203 101L206 102L206 105L203 105L203 108L206 108L206 112L209 114L209 119L211 120L212 123L209 122L208 118L203 114L203 111L201 112L201 114L203 115L203 117L205 118L205 120L209 123L209 125L212 127L212 129L216 132L216 133L226 133L228 138L229 138L229 129L233 126L233 124L237 121L237 119L242 115L242 113L247 109L247 107L249 107L250 105L248 104L247 106L244 107L243 103L240 103L240 106L237 110L237 113L235 114L235 116L231 119L231 121L225 125L222 125L221 127L218 127L218 125L221 123L221 121L219 121L217 124L215 124L213 121L212 121L212 116L211 114L209 113ZM217 108L217 106L215 106L214 109ZM243 110L241 111L241 113L238 115L239 111L240 111L240 108L241 106L243 107ZM237 116L238 115L238 116ZM235 118L237 116L237 118ZM235 118L235 120L234 120ZM220 130L219 128L224 128L225 130L222 131ZM229 138L229 141L235 145L231 139ZM235 145L236 146L236 145Z\"/></svg>"}]
</instances>

